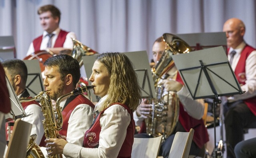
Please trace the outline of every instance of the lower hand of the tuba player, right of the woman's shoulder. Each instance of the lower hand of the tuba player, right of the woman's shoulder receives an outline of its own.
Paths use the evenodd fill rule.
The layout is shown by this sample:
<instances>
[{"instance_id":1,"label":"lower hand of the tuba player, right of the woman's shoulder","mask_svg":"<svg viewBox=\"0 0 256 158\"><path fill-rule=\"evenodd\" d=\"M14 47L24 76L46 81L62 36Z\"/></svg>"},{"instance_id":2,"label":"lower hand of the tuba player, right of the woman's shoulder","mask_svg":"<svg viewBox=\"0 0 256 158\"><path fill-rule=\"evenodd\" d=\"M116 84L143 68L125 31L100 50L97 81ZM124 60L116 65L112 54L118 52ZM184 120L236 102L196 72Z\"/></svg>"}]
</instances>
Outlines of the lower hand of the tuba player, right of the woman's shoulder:
<instances>
[{"instance_id":1,"label":"lower hand of the tuba player, right of the woman's shoulder","mask_svg":"<svg viewBox=\"0 0 256 158\"><path fill-rule=\"evenodd\" d=\"M140 103L138 109L136 110L136 114L138 117L148 118L152 117L152 104L147 103L147 99L142 99L142 102Z\"/></svg>"}]
</instances>

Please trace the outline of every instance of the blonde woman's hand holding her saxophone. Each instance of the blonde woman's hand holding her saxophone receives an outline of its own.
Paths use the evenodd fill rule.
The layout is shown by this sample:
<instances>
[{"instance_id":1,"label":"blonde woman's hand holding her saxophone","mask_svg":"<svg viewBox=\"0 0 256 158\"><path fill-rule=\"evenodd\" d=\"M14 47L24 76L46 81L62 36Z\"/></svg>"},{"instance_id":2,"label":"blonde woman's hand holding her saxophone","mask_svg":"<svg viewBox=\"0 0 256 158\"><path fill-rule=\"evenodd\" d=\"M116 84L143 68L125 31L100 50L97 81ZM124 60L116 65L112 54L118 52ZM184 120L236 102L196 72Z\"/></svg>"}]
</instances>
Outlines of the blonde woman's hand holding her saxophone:
<instances>
[{"instance_id":1,"label":"blonde woman's hand holding her saxophone","mask_svg":"<svg viewBox=\"0 0 256 158\"><path fill-rule=\"evenodd\" d=\"M55 155L55 154L63 154L64 146L68 143L63 138L48 138L44 140L46 144L46 151L49 156Z\"/></svg>"}]
</instances>

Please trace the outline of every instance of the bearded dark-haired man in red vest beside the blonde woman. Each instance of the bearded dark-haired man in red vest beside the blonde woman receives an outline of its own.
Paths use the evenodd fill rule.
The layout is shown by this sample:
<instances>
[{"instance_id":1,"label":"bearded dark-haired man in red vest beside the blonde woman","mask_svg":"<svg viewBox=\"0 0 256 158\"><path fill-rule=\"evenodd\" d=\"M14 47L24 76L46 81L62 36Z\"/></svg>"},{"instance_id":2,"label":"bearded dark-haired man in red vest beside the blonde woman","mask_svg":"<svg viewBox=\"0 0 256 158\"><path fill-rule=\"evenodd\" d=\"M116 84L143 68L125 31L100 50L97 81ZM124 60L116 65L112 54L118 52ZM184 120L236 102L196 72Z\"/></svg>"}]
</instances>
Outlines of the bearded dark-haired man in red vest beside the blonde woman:
<instances>
[{"instance_id":1,"label":"bearded dark-haired man in red vest beside the blonde woman","mask_svg":"<svg viewBox=\"0 0 256 158\"><path fill-rule=\"evenodd\" d=\"M69 94L76 88L80 79L79 62L70 55L56 55L45 62L44 86L50 99ZM60 102L63 125L60 135L65 135L68 142L82 146L84 133L90 128L94 115L94 104L83 94L70 96Z\"/></svg>"}]
</instances>

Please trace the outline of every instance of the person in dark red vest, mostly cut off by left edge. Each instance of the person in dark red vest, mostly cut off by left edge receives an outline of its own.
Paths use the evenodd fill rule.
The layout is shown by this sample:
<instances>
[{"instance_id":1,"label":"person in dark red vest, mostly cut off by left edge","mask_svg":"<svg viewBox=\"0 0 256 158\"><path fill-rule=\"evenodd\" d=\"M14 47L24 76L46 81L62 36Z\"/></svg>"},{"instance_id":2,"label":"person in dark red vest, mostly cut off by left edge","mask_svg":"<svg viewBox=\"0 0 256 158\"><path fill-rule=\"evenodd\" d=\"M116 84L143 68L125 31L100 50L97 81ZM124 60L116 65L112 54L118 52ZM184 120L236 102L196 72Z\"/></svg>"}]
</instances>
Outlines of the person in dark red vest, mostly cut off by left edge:
<instances>
[{"instance_id":1,"label":"person in dark red vest, mostly cut off by left edge","mask_svg":"<svg viewBox=\"0 0 256 158\"><path fill-rule=\"evenodd\" d=\"M11 110L9 92L6 85L5 72L2 64L0 64L0 84L0 158L2 158L4 156L4 150L6 147L4 114L10 112Z\"/></svg>"}]
</instances>

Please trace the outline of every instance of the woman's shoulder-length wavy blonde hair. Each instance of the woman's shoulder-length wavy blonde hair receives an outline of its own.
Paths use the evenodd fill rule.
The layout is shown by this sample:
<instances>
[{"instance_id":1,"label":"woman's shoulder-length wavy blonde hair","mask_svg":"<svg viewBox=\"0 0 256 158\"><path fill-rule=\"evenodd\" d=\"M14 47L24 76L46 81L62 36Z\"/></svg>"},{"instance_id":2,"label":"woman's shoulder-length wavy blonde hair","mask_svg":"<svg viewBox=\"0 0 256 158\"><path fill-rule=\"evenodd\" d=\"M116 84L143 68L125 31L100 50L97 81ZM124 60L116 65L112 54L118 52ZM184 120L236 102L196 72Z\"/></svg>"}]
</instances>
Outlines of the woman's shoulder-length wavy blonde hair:
<instances>
[{"instance_id":1,"label":"woman's shoulder-length wavy blonde hair","mask_svg":"<svg viewBox=\"0 0 256 158\"><path fill-rule=\"evenodd\" d=\"M102 108L105 109L112 103L119 102L130 107L131 111L135 111L141 103L142 94L130 59L123 53L116 52L102 53L96 60L106 66L110 74L108 98Z\"/></svg>"}]
</instances>

